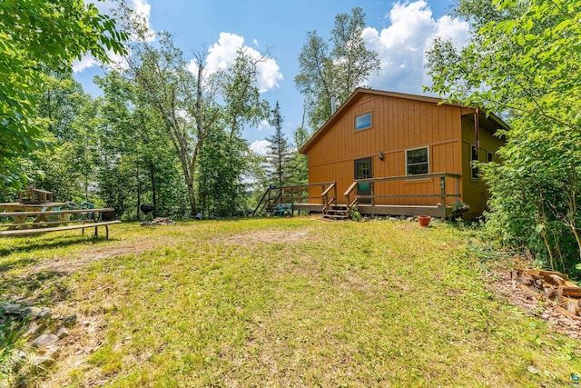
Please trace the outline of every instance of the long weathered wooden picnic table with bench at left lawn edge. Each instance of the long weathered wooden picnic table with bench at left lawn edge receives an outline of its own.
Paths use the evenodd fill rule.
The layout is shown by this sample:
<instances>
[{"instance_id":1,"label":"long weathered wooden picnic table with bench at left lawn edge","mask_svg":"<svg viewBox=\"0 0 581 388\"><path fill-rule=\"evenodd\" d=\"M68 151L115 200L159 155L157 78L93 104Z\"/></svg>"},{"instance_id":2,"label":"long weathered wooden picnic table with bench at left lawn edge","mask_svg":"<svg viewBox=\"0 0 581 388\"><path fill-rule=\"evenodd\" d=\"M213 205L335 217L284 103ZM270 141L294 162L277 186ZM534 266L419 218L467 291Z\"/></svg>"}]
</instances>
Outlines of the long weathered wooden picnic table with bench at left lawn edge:
<instances>
[{"instance_id":1,"label":"long weathered wooden picnic table with bench at left lawn edge","mask_svg":"<svg viewBox=\"0 0 581 388\"><path fill-rule=\"evenodd\" d=\"M44 234L50 232L67 231L73 229L94 228L95 237L98 236L99 226L105 227L106 238L109 238L109 225L120 224L118 220L103 221L103 214L113 212L112 208L103 209L81 209L81 210L59 210L46 212L4 212L0 217L12 217L15 220L13 224L0 224L0 228L7 227L8 230L0 231L0 236L25 235L25 234ZM57 215L59 217L70 214L91 214L91 218L84 220L59 220L48 221L48 216ZM95 216L96 215L96 216ZM34 217L34 222L26 222L26 218ZM78 224L77 224L78 223ZM62 226L53 226L65 224ZM73 224L73 225L71 225Z\"/></svg>"}]
</instances>

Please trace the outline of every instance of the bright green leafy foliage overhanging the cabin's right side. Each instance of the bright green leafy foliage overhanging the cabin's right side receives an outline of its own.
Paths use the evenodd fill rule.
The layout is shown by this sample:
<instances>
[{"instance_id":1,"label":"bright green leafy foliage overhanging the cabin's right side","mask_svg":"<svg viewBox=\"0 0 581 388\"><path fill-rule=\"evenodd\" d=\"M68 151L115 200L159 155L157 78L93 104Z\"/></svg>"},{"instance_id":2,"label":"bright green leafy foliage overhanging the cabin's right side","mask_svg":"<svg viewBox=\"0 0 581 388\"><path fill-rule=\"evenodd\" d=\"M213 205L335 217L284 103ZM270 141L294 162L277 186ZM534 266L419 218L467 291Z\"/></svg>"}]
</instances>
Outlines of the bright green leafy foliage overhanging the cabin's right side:
<instances>
[{"instance_id":1,"label":"bright green leafy foliage overhanging the cabin's right side","mask_svg":"<svg viewBox=\"0 0 581 388\"><path fill-rule=\"evenodd\" d=\"M492 192L488 227L572 271L581 248L581 4L466 0L457 13L476 27L471 42L461 52L436 42L429 89L507 115L503 164L481 165Z\"/></svg>"}]
</instances>

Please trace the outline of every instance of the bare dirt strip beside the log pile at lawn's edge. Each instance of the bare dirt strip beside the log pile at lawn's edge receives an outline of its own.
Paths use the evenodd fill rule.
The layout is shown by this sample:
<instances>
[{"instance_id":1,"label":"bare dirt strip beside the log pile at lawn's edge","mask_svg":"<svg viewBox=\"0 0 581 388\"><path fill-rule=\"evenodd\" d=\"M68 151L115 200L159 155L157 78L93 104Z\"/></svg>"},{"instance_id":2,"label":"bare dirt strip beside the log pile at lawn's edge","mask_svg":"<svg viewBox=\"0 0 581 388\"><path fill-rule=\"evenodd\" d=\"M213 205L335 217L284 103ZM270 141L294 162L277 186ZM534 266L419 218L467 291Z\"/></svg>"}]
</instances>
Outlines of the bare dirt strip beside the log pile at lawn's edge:
<instances>
[{"instance_id":1,"label":"bare dirt strip beside the log pile at lawn's edge","mask_svg":"<svg viewBox=\"0 0 581 388\"><path fill-rule=\"evenodd\" d=\"M491 278L493 276L491 275ZM581 339L581 320L569 318L556 310L555 303L520 288L516 280L510 279L507 271L498 272L496 280L490 282L490 291L516 305L524 312L550 323L553 330L571 338Z\"/></svg>"}]
</instances>

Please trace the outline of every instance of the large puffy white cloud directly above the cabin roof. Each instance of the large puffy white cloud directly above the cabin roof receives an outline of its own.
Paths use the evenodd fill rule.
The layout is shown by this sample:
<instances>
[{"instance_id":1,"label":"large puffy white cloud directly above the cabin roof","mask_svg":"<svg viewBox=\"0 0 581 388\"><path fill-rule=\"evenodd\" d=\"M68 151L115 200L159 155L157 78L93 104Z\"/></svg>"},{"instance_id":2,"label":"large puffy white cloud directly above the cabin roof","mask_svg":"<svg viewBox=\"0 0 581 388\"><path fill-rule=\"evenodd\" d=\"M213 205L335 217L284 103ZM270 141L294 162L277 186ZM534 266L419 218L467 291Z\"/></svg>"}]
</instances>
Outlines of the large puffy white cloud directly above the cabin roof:
<instances>
[{"instance_id":1,"label":"large puffy white cloud directly above the cabin roof","mask_svg":"<svg viewBox=\"0 0 581 388\"><path fill-rule=\"evenodd\" d=\"M369 78L369 86L398 92L422 93L422 85L431 80L426 75L426 51L438 36L466 45L468 23L442 16L434 19L424 0L396 3L389 12L391 25L380 32L372 27L363 30L366 45L379 55L379 75Z\"/></svg>"}]
</instances>

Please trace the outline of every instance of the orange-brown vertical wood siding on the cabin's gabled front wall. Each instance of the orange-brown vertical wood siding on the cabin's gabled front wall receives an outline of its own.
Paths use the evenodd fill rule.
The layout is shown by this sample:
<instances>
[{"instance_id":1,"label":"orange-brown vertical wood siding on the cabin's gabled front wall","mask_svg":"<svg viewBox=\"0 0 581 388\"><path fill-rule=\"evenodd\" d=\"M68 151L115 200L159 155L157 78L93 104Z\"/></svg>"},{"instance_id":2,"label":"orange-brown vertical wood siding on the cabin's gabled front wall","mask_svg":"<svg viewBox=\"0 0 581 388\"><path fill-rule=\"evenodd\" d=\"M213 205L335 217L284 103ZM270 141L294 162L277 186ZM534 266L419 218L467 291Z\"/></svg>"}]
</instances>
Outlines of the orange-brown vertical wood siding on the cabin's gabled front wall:
<instances>
[{"instance_id":1,"label":"orange-brown vertical wood siding on the cabin's gabled front wall","mask_svg":"<svg viewBox=\"0 0 581 388\"><path fill-rule=\"evenodd\" d=\"M371 112L371 128L355 132L355 117ZM406 174L405 151L428 146L429 172L462 174L461 112L458 106L362 94L344 110L309 154L309 181L337 182L340 204L354 179L353 161L372 157L373 177ZM378 154L384 154L379 160ZM454 189L453 181L448 193ZM439 180L376 184L376 194L439 194ZM453 202L448 199L448 204ZM316 199L312 202L318 202ZM377 204L437 204L439 198L379 199Z\"/></svg>"}]
</instances>

